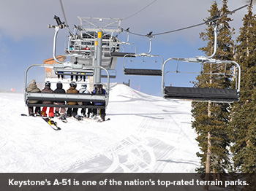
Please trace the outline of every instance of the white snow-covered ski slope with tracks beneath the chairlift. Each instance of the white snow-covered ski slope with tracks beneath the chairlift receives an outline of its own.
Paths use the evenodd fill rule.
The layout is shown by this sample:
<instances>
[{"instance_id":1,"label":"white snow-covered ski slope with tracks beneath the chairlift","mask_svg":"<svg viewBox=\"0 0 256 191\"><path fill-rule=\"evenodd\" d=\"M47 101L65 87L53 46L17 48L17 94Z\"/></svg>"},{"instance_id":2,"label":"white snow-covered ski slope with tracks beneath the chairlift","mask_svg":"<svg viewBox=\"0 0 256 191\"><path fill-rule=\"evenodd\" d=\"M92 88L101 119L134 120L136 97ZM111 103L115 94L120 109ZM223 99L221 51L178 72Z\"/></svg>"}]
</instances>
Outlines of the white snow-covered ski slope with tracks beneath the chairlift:
<instances>
[{"instance_id":1,"label":"white snow-covered ski slope with tracks beneath the chairlift","mask_svg":"<svg viewBox=\"0 0 256 191\"><path fill-rule=\"evenodd\" d=\"M23 94L0 93L0 172L195 172L190 105L113 84L109 121L55 119L55 131L20 116Z\"/></svg>"}]
</instances>

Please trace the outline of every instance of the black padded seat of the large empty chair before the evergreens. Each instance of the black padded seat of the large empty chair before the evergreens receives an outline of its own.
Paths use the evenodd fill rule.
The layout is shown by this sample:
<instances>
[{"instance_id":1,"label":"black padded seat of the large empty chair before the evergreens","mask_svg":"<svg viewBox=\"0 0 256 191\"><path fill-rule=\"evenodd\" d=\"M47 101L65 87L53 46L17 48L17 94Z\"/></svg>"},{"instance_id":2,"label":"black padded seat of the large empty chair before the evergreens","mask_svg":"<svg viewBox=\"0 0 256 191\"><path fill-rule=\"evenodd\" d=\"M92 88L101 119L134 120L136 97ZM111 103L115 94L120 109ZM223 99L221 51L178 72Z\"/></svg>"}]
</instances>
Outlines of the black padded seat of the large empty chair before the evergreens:
<instances>
[{"instance_id":1,"label":"black padded seat of the large empty chair before the evergreens","mask_svg":"<svg viewBox=\"0 0 256 191\"><path fill-rule=\"evenodd\" d=\"M195 101L239 101L240 95L234 89L200 88L200 87L165 87L164 98L186 99Z\"/></svg>"}]
</instances>

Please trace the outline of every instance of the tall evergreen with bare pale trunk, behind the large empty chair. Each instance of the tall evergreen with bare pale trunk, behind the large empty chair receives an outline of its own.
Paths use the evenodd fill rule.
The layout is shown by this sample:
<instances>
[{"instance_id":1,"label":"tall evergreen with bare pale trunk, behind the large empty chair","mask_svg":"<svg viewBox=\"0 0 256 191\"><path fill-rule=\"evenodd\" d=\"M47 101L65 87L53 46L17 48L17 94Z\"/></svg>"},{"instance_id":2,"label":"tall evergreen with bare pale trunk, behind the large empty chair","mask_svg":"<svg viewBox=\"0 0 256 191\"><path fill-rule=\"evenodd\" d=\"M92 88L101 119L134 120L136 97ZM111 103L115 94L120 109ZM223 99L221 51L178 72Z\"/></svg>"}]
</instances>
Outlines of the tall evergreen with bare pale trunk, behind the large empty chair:
<instances>
[{"instance_id":1,"label":"tall evergreen with bare pale trunk, behind the large empty chair","mask_svg":"<svg viewBox=\"0 0 256 191\"><path fill-rule=\"evenodd\" d=\"M222 8L218 9L217 3L211 5L208 10L210 16L207 20L219 15L225 15L228 11L227 0L222 1ZM217 22L222 23L217 39L217 53L215 59L232 60L233 58L233 39L234 29L230 28L230 17L221 17ZM214 28L212 23L208 24L205 32L200 33L200 38L208 42L206 47L200 48L206 55L212 55L214 51ZM208 64L203 66L203 73L214 73L224 71L225 66ZM227 67L227 72L230 66ZM203 75L197 77L195 87L228 88L231 86L230 79L219 75ZM192 102L192 116L194 121L192 127L195 128L198 136L197 141L200 152L197 156L201 159L201 167L198 172L222 173L229 168L230 145L228 123L230 121L230 105L220 103L195 103ZM219 179L219 177L218 177Z\"/></svg>"}]
</instances>

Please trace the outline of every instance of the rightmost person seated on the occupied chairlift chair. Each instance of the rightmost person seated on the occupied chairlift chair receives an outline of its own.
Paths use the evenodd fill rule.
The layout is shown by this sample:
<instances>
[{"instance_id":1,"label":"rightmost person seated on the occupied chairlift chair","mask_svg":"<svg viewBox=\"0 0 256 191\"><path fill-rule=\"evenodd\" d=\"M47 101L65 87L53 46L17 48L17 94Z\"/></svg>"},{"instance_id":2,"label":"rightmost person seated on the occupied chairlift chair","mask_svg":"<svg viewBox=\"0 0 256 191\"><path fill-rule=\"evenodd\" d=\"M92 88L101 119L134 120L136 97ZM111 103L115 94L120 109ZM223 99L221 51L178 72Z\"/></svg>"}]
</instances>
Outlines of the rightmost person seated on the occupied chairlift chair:
<instances>
[{"instance_id":1,"label":"rightmost person seated on the occupied chairlift chair","mask_svg":"<svg viewBox=\"0 0 256 191\"><path fill-rule=\"evenodd\" d=\"M103 85L102 84L95 84L94 85L94 90L91 92L93 95L106 95L106 91L105 89L103 89ZM104 102L94 102L93 103L94 106L105 106ZM94 116L97 115L97 109L92 109L92 112L94 114ZM99 114L100 117L102 118L103 121L105 121L105 109L99 109Z\"/></svg>"}]
</instances>

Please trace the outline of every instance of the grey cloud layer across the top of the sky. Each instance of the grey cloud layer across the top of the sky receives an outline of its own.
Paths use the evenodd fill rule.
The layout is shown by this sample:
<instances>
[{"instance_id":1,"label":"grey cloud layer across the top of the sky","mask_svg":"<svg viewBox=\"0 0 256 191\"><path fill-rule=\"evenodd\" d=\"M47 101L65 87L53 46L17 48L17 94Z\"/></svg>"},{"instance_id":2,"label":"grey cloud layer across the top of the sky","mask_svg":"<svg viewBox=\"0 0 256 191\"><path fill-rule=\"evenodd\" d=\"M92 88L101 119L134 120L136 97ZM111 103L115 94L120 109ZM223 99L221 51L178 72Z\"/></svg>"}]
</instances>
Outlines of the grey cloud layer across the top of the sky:
<instances>
[{"instance_id":1,"label":"grey cloud layer across the top of the sky","mask_svg":"<svg viewBox=\"0 0 256 191\"><path fill-rule=\"evenodd\" d=\"M63 4L69 26L72 28L73 24L79 24L77 16L124 18L143 9L152 1L63 0ZM230 7L233 8L241 5L242 1L230 2ZM124 20L123 26L143 34L149 31L158 33L173 30L202 22L203 18L208 16L207 10L210 7L211 2L205 0L157 0L142 12ZM14 39L22 39L24 36L52 36L53 31L47 26L48 23L55 24L54 15L59 15L64 20L59 1L2 1L0 31Z\"/></svg>"}]
</instances>

